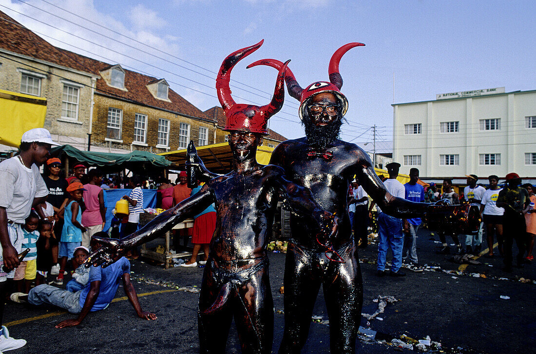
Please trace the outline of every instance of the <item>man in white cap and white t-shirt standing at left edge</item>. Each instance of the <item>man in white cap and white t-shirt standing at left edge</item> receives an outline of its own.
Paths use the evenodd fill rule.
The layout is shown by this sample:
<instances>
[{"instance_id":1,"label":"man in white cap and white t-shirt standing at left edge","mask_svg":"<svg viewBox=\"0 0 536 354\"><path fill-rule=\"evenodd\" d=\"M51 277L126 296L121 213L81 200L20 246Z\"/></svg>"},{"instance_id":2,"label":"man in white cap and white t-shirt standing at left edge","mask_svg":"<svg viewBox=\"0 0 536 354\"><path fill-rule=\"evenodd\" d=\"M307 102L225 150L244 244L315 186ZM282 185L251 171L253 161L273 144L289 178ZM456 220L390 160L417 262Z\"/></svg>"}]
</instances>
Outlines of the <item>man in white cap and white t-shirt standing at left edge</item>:
<instances>
[{"instance_id":1,"label":"man in white cap and white t-shirt standing at left edge","mask_svg":"<svg viewBox=\"0 0 536 354\"><path fill-rule=\"evenodd\" d=\"M0 163L0 325L4 315L6 280L13 279L14 268L20 264L18 253L23 242L21 225L33 206L45 201L48 189L39 173L39 167L49 157L52 141L47 129L34 128L23 134L17 156ZM36 211L42 215L41 208ZM9 273L2 266L11 269ZM24 339L9 336L8 328L0 329L0 352L17 349L26 344Z\"/></svg>"}]
</instances>

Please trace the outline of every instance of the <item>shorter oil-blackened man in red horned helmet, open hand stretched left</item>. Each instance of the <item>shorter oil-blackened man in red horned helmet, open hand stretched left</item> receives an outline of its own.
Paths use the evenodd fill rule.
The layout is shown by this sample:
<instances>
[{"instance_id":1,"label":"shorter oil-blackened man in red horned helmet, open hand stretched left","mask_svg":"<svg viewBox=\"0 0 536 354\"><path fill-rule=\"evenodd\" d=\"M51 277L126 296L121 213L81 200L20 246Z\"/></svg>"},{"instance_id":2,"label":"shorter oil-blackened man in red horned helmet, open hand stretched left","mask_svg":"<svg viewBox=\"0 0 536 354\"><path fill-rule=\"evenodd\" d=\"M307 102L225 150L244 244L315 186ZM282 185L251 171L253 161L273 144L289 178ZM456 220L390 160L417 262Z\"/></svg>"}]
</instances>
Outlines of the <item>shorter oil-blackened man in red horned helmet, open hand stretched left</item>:
<instances>
[{"instance_id":1,"label":"shorter oil-blackened man in red horned helmet, open hand stretched left","mask_svg":"<svg viewBox=\"0 0 536 354\"><path fill-rule=\"evenodd\" d=\"M208 181L197 194L159 214L136 233L122 240L99 239L103 247L88 260L94 265L111 264L126 250L152 240L215 203L217 224L199 295L202 353L225 352L233 317L242 352L272 351L273 301L266 245L278 193L295 212L308 216L310 225L316 225L321 242L327 243L337 232L336 218L314 202L308 189L286 180L282 168L257 163L257 147L267 135L267 119L283 103L283 73L279 73L272 102L260 107L233 101L229 73L237 61L260 44L229 55L218 74L218 97L227 117L225 130L233 153L232 172Z\"/></svg>"}]
</instances>

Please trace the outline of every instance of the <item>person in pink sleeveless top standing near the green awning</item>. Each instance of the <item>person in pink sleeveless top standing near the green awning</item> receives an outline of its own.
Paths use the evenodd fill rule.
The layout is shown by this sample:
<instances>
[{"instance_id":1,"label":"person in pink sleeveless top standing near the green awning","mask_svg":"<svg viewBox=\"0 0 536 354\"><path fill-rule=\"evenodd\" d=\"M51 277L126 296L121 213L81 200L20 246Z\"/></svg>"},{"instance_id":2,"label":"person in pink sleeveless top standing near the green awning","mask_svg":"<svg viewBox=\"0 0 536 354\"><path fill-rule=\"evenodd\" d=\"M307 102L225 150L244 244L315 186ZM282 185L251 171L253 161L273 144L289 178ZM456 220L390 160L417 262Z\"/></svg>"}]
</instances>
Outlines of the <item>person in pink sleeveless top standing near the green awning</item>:
<instances>
[{"instance_id":1,"label":"person in pink sleeveless top standing near the green awning","mask_svg":"<svg viewBox=\"0 0 536 354\"><path fill-rule=\"evenodd\" d=\"M82 213L82 225L87 229L82 234L82 245L90 247L93 234L102 231L106 224L106 207L104 206L104 191L102 184L102 172L93 168L87 174L89 183L84 184L84 203L86 210Z\"/></svg>"}]
</instances>

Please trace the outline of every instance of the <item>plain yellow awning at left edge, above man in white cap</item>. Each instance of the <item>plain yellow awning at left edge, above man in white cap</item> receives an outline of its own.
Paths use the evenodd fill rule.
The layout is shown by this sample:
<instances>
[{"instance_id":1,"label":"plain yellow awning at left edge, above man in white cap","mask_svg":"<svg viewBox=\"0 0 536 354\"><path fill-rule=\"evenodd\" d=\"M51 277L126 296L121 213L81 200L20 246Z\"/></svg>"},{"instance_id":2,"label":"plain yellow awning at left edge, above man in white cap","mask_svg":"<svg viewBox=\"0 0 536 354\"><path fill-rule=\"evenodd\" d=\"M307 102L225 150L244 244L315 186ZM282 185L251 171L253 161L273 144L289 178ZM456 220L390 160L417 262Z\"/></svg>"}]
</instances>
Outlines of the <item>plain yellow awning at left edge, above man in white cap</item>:
<instances>
[{"instance_id":1,"label":"plain yellow awning at left edge, above man in white cap","mask_svg":"<svg viewBox=\"0 0 536 354\"><path fill-rule=\"evenodd\" d=\"M42 128L47 99L0 90L0 144L18 147L26 130Z\"/></svg>"}]
</instances>

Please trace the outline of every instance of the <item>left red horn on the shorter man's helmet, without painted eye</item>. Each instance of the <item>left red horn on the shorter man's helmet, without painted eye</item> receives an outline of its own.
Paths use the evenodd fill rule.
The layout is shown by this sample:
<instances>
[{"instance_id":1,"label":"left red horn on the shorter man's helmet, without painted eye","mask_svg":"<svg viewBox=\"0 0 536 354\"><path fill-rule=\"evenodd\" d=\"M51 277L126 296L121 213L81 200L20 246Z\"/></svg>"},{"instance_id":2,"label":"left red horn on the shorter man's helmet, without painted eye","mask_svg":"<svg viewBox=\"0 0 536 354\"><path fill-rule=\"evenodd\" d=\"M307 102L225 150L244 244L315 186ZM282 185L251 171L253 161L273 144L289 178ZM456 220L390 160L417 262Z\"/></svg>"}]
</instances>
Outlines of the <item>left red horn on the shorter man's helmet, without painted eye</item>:
<instances>
[{"instance_id":1,"label":"left red horn on the shorter man's helmet, without painted eye","mask_svg":"<svg viewBox=\"0 0 536 354\"><path fill-rule=\"evenodd\" d=\"M218 92L218 99L225 113L236 104L231 96L231 90L229 88L231 70L233 70L233 67L242 58L247 57L252 52L259 49L260 46L263 45L263 42L264 40L261 40L257 44L251 45L251 47L239 49L229 54L227 58L224 59L223 63L221 63L218 78L216 79L216 91Z\"/></svg>"}]
</instances>

